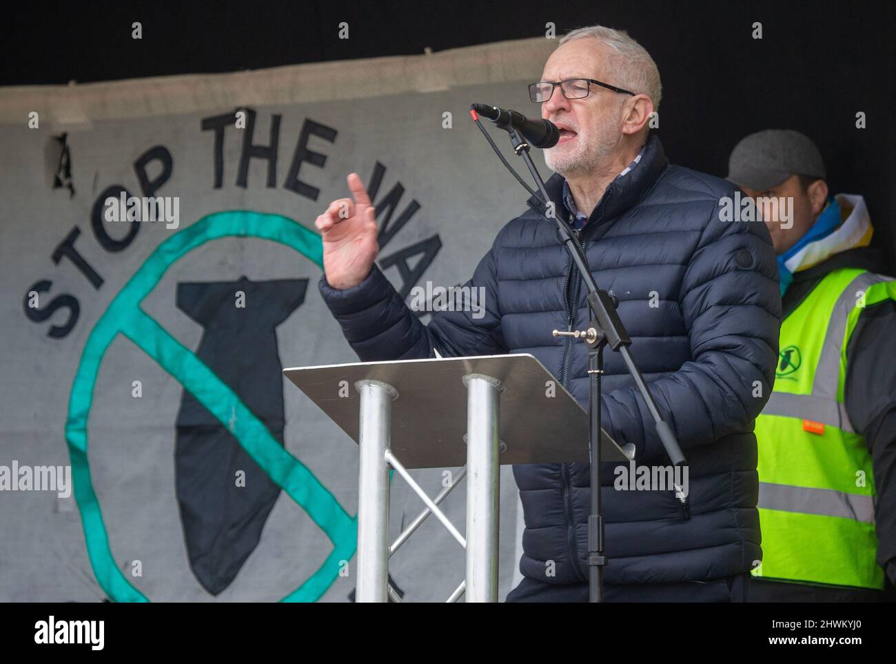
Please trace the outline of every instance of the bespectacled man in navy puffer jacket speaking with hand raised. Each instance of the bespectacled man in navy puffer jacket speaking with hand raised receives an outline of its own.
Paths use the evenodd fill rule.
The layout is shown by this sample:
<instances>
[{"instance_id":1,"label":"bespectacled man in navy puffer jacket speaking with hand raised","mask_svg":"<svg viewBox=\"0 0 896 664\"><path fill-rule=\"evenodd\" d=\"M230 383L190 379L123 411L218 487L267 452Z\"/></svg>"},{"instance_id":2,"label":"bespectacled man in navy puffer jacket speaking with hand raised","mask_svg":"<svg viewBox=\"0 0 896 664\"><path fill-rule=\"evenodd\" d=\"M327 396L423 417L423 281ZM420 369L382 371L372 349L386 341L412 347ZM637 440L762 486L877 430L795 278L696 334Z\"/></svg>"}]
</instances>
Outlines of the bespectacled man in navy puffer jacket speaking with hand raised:
<instances>
[{"instance_id":1,"label":"bespectacled man in navy puffer jacket speaking with hand raised","mask_svg":"<svg viewBox=\"0 0 896 664\"><path fill-rule=\"evenodd\" d=\"M670 166L649 135L659 72L625 32L573 30L530 85L541 116L560 129L545 151L547 193L570 221L599 286L616 295L632 353L689 462L688 504L671 488L616 491L601 469L608 601L742 600L762 558L756 511L754 418L771 393L780 294L761 221L723 221L736 188ZM374 264L374 207L356 174L352 199L315 221L323 235L320 290L362 360L528 352L583 405L587 349L551 330L580 330L589 309L582 276L560 244L545 202L508 222L467 284L485 313L444 311L420 323ZM642 398L607 353L603 426L633 444L639 466L669 461ZM586 444L586 442L582 442ZM508 601L587 601L589 468L514 466L526 530L523 580Z\"/></svg>"}]
</instances>

